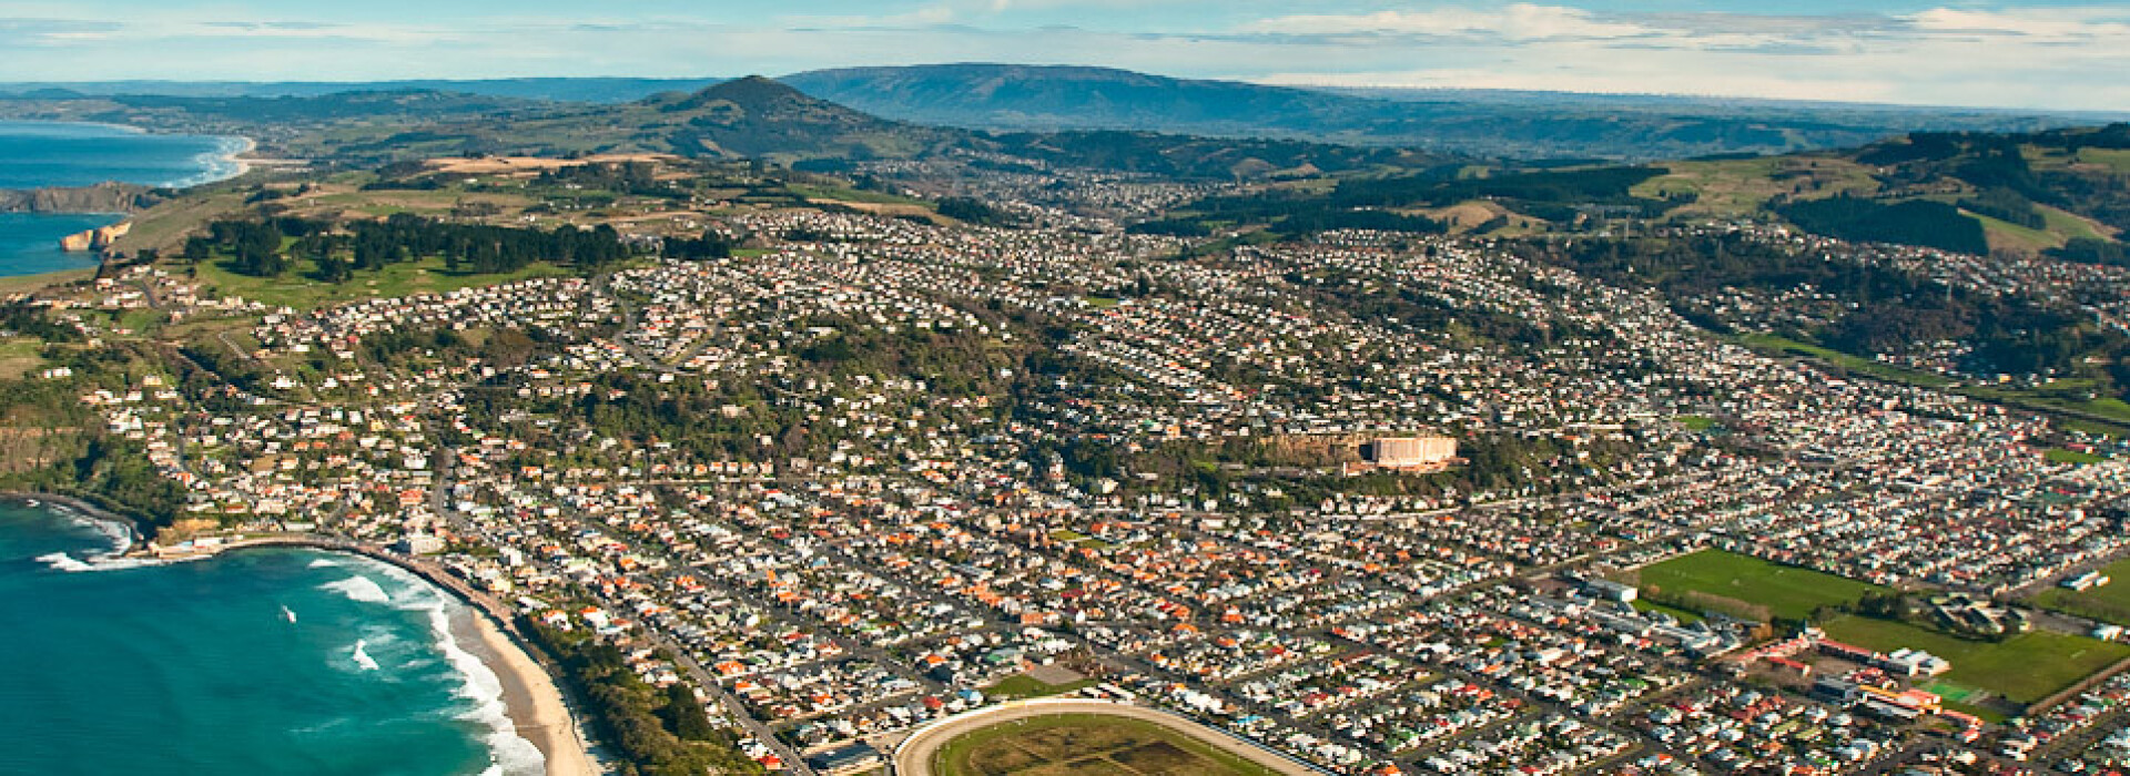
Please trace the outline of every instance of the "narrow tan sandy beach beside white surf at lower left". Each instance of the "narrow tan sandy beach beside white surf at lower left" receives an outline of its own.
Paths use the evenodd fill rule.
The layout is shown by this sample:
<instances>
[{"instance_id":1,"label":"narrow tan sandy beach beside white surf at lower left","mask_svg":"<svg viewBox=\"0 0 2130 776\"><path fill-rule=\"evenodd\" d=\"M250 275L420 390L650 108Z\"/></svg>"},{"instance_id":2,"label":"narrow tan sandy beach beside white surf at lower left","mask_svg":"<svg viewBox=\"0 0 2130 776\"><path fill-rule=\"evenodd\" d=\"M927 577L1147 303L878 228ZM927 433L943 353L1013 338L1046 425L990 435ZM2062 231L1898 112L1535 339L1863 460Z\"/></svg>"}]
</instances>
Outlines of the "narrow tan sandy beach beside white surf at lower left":
<instances>
[{"instance_id":1,"label":"narrow tan sandy beach beside white surf at lower left","mask_svg":"<svg viewBox=\"0 0 2130 776\"><path fill-rule=\"evenodd\" d=\"M473 608L464 608L462 614L471 621L466 627L475 636L466 642L466 651L488 663L503 680L503 706L518 723L518 736L530 740L545 757L547 776L599 774L601 770L586 750L584 736L577 731L554 678L488 617ZM458 625L454 623L454 629Z\"/></svg>"}]
</instances>

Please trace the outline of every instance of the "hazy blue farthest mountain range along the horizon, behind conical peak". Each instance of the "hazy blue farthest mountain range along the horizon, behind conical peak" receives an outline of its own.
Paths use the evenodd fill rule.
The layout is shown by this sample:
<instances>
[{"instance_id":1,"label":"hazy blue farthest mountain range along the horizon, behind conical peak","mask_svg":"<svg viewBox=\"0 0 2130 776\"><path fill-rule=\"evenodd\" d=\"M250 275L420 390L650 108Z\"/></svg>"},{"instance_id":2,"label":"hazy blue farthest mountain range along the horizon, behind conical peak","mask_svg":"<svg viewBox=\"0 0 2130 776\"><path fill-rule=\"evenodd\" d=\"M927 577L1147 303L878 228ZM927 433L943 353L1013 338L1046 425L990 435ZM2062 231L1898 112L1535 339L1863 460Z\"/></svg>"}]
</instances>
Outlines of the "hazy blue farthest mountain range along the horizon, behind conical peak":
<instances>
[{"instance_id":1,"label":"hazy blue farthest mountain range along the horizon, behind conical peak","mask_svg":"<svg viewBox=\"0 0 2130 776\"><path fill-rule=\"evenodd\" d=\"M939 64L780 79L882 119L993 132L1129 130L1406 147L1512 159L1681 159L1859 147L1923 130L2038 132L2107 115L1549 91L1297 89L1080 66ZM0 96L324 98L437 91L513 102L630 104L720 79L505 79L383 83L23 83Z\"/></svg>"}]
</instances>

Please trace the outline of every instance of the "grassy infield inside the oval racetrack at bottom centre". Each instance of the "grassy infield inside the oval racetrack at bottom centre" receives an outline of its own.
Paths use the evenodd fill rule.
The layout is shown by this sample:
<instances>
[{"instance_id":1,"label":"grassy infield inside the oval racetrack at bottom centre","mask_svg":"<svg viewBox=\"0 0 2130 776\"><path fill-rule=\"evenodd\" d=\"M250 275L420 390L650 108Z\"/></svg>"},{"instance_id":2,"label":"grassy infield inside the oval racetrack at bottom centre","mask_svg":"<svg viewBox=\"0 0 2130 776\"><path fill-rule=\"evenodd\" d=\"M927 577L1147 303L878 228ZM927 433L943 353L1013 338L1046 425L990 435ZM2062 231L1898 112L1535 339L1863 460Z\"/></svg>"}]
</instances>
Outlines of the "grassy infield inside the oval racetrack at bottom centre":
<instances>
[{"instance_id":1,"label":"grassy infield inside the oval racetrack at bottom centre","mask_svg":"<svg viewBox=\"0 0 2130 776\"><path fill-rule=\"evenodd\" d=\"M986 727L948 742L933 757L939 776L1274 776L1161 725L1099 714Z\"/></svg>"}]
</instances>

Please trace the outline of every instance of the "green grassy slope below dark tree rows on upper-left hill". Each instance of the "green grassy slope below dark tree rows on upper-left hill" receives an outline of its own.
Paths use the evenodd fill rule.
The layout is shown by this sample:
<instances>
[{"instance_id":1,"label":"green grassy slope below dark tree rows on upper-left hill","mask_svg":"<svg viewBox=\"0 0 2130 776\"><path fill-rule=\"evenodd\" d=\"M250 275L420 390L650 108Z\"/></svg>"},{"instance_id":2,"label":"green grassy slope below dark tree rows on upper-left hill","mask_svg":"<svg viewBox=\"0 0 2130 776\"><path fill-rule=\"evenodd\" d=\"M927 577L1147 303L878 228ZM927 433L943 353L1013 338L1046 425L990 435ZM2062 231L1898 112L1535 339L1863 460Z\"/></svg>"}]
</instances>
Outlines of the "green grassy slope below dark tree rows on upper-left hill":
<instances>
[{"instance_id":1,"label":"green grassy slope below dark tree rows on upper-left hill","mask_svg":"<svg viewBox=\"0 0 2130 776\"><path fill-rule=\"evenodd\" d=\"M296 262L290 272L277 279L236 274L219 262L200 262L198 270L200 281L215 287L215 296L241 296L266 304L292 306L296 310L313 310L320 306L379 296L439 293L475 285L573 274L571 268L554 264L532 264L509 274L449 272L443 268L443 259L405 262L386 266L377 272L356 272L356 276L347 283L320 283L311 279L311 274L317 272L317 266L311 259Z\"/></svg>"}]
</instances>

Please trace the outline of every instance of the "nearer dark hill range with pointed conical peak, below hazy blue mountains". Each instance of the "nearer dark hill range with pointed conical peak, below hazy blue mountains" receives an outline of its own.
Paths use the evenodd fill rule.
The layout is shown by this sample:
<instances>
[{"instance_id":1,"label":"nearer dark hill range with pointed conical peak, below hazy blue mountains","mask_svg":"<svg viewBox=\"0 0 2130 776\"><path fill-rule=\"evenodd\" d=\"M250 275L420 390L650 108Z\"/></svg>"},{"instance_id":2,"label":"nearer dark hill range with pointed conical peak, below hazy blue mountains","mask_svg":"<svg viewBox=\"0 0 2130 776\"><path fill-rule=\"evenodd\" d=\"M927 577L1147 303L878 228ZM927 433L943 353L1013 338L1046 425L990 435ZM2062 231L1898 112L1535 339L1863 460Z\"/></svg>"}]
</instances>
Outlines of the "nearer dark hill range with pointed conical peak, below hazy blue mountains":
<instances>
[{"instance_id":1,"label":"nearer dark hill range with pointed conical peak, below hazy blue mountains","mask_svg":"<svg viewBox=\"0 0 2130 776\"><path fill-rule=\"evenodd\" d=\"M324 96L0 96L4 119L104 121L245 134L262 151L375 168L452 155L673 153L839 170L865 159L1048 164L1176 179L1259 179L1440 164L1389 147L1154 132L976 132L882 119L746 77L633 102L541 102L456 91ZM1016 162L1018 159L1018 162Z\"/></svg>"}]
</instances>

